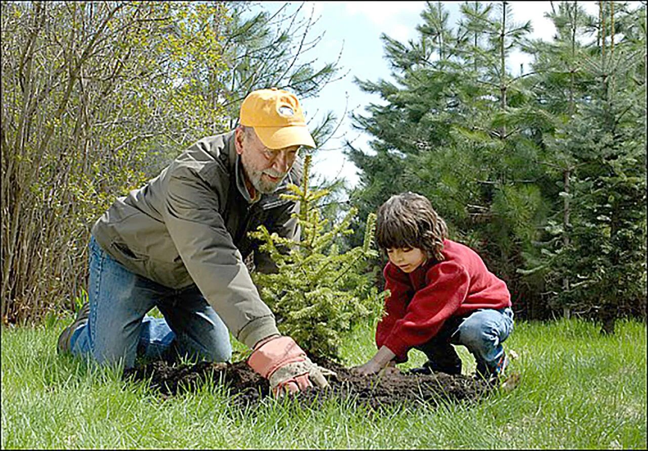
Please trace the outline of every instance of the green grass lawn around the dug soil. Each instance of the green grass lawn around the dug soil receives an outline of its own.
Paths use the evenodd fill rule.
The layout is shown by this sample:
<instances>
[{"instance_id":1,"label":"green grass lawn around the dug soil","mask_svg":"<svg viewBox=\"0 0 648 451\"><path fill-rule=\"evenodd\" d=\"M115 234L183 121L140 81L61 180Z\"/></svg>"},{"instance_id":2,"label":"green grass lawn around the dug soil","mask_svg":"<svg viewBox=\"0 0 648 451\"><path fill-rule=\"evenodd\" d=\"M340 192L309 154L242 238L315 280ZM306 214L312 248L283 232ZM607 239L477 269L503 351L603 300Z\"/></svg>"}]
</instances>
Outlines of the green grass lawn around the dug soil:
<instances>
[{"instance_id":1,"label":"green grass lawn around the dug soil","mask_svg":"<svg viewBox=\"0 0 648 451\"><path fill-rule=\"evenodd\" d=\"M350 402L320 410L268 399L239 410L203 384L166 400L118 369L58 357L71 318L2 329L2 448L646 448L646 325L614 336L583 320L516 322L512 391L478 404L371 413ZM237 342L235 351L242 351ZM348 366L373 355L373 329L343 342ZM464 371L474 362L463 347ZM410 352L403 368L424 356Z\"/></svg>"}]
</instances>

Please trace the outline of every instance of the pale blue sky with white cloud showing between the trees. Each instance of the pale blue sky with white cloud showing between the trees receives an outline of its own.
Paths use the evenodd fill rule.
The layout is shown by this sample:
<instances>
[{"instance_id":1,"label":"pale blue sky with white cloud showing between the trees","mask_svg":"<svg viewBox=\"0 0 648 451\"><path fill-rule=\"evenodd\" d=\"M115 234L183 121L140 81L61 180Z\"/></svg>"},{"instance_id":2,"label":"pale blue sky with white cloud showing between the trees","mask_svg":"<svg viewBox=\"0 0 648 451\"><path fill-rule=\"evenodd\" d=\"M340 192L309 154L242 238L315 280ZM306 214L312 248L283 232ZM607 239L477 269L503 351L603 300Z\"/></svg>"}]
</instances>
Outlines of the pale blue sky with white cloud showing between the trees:
<instances>
[{"instance_id":1,"label":"pale blue sky with white cloud showing between the trees","mask_svg":"<svg viewBox=\"0 0 648 451\"><path fill-rule=\"evenodd\" d=\"M448 23L454 27L459 19L459 6L463 2L443 2L450 12ZM596 1L579 2L590 14L597 12ZM636 2L632 2L636 3ZM276 10L284 2L263 2L264 8ZM531 38L550 40L555 32L553 25L544 17L544 13L551 8L549 1L511 1L513 20L515 23L524 23L531 20L533 32ZM555 5L557 2L555 2ZM295 10L301 2L289 5L290 10ZM375 95L362 93L355 83L354 76L360 80L377 81L379 78L390 80L388 62L384 58L380 34L385 33L391 38L406 42L417 37L416 26L422 23L421 12L425 9L424 1L309 1L303 8L304 14L314 12L319 21L312 28L312 36L324 33L323 39L310 54L310 58L317 56L319 63L334 61L342 49L340 58L341 73L349 71L342 80L332 82L320 93L318 98L303 101L303 107L308 120L312 124L326 111L333 111L342 120L337 133L324 146L318 149L314 157L314 173L319 175L321 181L343 178L348 186L358 182L356 168L342 152L345 139L353 142L354 146L371 152L368 140L369 135L354 130L351 127L349 113L364 113L364 107L371 102L380 102ZM528 68L530 57L522 54L511 56L510 67L513 71L520 71L520 63ZM528 69L525 69L525 72ZM348 106L347 115L344 116L345 105Z\"/></svg>"}]
</instances>

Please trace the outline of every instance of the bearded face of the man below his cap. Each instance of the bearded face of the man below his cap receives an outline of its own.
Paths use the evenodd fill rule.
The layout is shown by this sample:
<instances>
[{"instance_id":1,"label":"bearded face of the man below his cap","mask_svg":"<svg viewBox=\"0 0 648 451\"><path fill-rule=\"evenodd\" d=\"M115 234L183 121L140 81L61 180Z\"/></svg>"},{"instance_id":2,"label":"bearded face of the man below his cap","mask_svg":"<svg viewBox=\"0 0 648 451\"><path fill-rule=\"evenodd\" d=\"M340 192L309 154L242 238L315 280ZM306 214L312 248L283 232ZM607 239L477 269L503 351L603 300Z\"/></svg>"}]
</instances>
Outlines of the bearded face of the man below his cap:
<instances>
[{"instance_id":1,"label":"bearded face of the man below his cap","mask_svg":"<svg viewBox=\"0 0 648 451\"><path fill-rule=\"evenodd\" d=\"M288 175L299 150L299 146L268 149L253 129L246 133L240 127L236 130L235 141L248 181L264 194L272 193Z\"/></svg>"}]
</instances>

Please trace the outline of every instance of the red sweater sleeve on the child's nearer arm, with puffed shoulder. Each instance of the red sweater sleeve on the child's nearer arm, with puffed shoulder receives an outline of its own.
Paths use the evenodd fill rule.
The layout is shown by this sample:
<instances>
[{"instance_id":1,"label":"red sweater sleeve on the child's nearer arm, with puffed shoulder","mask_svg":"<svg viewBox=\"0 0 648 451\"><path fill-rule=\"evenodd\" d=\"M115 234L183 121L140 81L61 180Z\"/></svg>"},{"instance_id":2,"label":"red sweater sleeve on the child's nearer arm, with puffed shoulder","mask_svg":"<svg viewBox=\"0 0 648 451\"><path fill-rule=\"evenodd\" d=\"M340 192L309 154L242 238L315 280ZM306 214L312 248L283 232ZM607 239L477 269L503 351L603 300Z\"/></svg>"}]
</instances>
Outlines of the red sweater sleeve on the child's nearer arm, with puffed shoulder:
<instances>
[{"instance_id":1,"label":"red sweater sleeve on the child's nearer arm, with puffed shoulder","mask_svg":"<svg viewBox=\"0 0 648 451\"><path fill-rule=\"evenodd\" d=\"M427 280L428 285L416 292L406 313L395 322L385 339L384 345L397 358L406 359L411 347L432 339L468 294L468 272L453 261L442 261L432 266Z\"/></svg>"}]
</instances>

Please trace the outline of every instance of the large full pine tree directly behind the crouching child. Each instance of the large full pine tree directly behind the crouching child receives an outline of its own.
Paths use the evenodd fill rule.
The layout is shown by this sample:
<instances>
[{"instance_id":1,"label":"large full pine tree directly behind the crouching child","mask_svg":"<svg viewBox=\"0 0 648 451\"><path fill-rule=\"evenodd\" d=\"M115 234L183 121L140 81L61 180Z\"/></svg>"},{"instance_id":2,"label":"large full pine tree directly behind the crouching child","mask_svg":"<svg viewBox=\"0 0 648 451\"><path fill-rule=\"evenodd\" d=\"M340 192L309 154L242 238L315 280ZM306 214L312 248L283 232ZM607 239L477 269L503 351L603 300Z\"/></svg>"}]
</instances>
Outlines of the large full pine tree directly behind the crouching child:
<instances>
[{"instance_id":1,"label":"large full pine tree directly behind the crouching child","mask_svg":"<svg viewBox=\"0 0 648 451\"><path fill-rule=\"evenodd\" d=\"M417 40L384 36L396 83L358 81L388 103L354 116L376 139L373 155L349 148L361 171L351 199L373 210L398 192L428 197L450 235L480 252L515 300L526 301L540 290L516 286L516 269L525 252L537 252L533 241L548 210L536 186L544 169L529 164L538 152L533 129L543 119L529 78L511 75L507 60L531 26L514 23L507 2L467 3L462 13L451 28L443 4L428 2Z\"/></svg>"}]
</instances>

